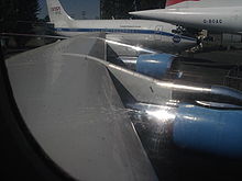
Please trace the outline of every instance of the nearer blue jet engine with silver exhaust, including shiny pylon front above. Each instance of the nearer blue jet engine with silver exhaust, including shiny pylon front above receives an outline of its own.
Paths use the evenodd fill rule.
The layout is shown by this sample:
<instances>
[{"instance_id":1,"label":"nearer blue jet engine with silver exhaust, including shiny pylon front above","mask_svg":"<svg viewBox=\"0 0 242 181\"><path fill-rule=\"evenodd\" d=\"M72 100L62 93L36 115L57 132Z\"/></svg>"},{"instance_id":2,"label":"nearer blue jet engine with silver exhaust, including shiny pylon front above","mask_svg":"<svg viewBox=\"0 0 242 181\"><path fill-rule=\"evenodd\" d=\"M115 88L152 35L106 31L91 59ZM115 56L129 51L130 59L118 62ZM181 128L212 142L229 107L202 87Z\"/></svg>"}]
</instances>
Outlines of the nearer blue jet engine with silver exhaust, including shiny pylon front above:
<instances>
[{"instance_id":1,"label":"nearer blue jet engine with silver exhaust, including shiny pylon front above","mask_svg":"<svg viewBox=\"0 0 242 181\"><path fill-rule=\"evenodd\" d=\"M197 90L190 87L186 92L183 91L185 87L177 84L170 101L162 105L147 102L127 104L134 110L133 120L139 132L151 136L147 147L154 154L163 154L164 147L173 149L175 145L187 150L241 159L242 92L219 86ZM186 93L189 99L177 97L187 97Z\"/></svg>"}]
</instances>

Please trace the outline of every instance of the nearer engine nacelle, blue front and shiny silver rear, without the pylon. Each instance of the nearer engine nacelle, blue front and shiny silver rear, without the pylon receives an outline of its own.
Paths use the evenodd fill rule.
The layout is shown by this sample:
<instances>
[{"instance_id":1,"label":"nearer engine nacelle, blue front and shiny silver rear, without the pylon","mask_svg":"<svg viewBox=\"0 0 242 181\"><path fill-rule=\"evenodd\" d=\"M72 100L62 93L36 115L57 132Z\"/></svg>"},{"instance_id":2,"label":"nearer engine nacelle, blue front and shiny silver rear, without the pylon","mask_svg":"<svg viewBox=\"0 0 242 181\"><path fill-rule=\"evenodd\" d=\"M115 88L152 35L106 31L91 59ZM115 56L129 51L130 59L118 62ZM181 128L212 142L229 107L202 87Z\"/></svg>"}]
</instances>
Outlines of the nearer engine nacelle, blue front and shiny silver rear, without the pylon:
<instances>
[{"instance_id":1,"label":"nearer engine nacelle, blue front and shiny silver rear, without the pylon","mask_svg":"<svg viewBox=\"0 0 242 181\"><path fill-rule=\"evenodd\" d=\"M170 103L173 106L127 104L129 111L133 110L130 113L141 125L139 128L150 136L146 146L163 154L164 146L175 144L188 150L242 159L242 110Z\"/></svg>"}]
</instances>

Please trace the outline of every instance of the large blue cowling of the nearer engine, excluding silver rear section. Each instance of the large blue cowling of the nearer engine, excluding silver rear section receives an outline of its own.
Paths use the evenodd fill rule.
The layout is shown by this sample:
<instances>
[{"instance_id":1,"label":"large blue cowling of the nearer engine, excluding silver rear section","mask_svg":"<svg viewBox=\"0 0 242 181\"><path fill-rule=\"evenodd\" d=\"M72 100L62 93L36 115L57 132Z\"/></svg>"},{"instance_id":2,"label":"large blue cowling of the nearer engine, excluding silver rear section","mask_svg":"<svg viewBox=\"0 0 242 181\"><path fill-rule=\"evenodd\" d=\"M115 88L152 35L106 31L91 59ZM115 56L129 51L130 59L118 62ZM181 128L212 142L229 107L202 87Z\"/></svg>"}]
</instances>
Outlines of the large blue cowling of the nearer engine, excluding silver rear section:
<instances>
[{"instance_id":1,"label":"large blue cowling of the nearer engine, excluding silver rear section","mask_svg":"<svg viewBox=\"0 0 242 181\"><path fill-rule=\"evenodd\" d=\"M242 158L242 111L182 104L173 140L183 148Z\"/></svg>"}]
</instances>

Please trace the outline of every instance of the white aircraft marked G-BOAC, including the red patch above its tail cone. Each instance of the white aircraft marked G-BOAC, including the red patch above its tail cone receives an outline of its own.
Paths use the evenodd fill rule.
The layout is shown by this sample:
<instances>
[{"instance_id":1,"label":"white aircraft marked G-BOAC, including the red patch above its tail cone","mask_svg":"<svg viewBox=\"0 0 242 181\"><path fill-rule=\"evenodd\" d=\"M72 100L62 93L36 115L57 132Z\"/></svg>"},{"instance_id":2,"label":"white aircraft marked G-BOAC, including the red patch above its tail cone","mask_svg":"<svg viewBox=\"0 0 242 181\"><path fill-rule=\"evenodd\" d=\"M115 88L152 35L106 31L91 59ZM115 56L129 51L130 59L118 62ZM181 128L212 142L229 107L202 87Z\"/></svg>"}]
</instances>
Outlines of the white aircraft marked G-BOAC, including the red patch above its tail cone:
<instances>
[{"instance_id":1,"label":"white aircraft marked G-BOAC, including the red patch above its tail cone","mask_svg":"<svg viewBox=\"0 0 242 181\"><path fill-rule=\"evenodd\" d=\"M240 0L167 0L166 9L136 11L130 14L184 27L242 33Z\"/></svg>"}]
</instances>

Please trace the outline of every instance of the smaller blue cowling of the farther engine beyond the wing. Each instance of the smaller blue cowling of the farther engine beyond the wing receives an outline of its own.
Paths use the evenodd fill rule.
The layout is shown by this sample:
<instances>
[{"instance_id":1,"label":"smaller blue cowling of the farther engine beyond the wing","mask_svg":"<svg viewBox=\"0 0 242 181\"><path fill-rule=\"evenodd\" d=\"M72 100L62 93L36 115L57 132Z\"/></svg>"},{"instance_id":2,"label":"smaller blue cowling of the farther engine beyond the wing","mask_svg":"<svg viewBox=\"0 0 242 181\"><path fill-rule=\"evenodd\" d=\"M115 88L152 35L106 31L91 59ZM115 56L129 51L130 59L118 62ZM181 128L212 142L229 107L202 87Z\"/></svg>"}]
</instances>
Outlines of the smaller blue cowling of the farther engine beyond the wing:
<instances>
[{"instance_id":1,"label":"smaller blue cowling of the farther engine beyond the wing","mask_svg":"<svg viewBox=\"0 0 242 181\"><path fill-rule=\"evenodd\" d=\"M172 68L175 56L170 54L140 55L136 61L136 71L153 77L163 78Z\"/></svg>"}]
</instances>

